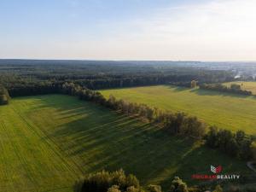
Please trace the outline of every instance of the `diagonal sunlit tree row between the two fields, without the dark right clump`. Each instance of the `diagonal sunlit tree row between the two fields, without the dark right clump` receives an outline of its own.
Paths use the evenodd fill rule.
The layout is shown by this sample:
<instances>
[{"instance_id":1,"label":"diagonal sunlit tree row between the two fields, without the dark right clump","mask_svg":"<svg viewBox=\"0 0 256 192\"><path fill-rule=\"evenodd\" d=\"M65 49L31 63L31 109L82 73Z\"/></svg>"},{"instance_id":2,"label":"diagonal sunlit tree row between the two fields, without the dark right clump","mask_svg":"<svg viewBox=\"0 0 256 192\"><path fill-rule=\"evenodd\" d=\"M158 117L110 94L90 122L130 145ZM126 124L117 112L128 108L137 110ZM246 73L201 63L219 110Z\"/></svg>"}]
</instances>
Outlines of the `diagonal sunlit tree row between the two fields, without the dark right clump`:
<instances>
[{"instance_id":1,"label":"diagonal sunlit tree row between the two fields, without the dark right clump","mask_svg":"<svg viewBox=\"0 0 256 192\"><path fill-rule=\"evenodd\" d=\"M163 125L164 129L172 135L189 136L201 138L205 135L206 125L196 117L190 117L185 113L170 113L158 108L149 108L145 104L137 104L117 100L114 96L109 96L107 100L100 92L82 88L80 85L66 83L62 85L61 91L64 94L79 96L81 100L93 101L105 107L112 108L127 115L137 116Z\"/></svg>"}]
</instances>

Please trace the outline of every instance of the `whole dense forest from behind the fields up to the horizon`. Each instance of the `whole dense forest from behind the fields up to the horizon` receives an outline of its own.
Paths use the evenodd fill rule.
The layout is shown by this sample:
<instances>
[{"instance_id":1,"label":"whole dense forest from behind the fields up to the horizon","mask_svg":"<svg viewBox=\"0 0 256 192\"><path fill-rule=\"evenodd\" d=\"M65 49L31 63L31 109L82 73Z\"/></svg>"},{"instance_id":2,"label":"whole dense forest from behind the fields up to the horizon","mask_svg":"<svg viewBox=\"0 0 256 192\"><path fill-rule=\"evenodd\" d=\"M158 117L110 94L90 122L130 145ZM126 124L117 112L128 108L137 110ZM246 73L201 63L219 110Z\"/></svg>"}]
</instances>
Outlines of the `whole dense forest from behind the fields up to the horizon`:
<instances>
[{"instance_id":1,"label":"whole dense forest from behind the fields up to the horizon","mask_svg":"<svg viewBox=\"0 0 256 192\"><path fill-rule=\"evenodd\" d=\"M194 64L192 62L192 64ZM174 82L221 83L235 73L193 67L189 62L167 61L40 61L0 60L0 83L16 96L16 90L41 84L73 82L91 90Z\"/></svg>"}]
</instances>

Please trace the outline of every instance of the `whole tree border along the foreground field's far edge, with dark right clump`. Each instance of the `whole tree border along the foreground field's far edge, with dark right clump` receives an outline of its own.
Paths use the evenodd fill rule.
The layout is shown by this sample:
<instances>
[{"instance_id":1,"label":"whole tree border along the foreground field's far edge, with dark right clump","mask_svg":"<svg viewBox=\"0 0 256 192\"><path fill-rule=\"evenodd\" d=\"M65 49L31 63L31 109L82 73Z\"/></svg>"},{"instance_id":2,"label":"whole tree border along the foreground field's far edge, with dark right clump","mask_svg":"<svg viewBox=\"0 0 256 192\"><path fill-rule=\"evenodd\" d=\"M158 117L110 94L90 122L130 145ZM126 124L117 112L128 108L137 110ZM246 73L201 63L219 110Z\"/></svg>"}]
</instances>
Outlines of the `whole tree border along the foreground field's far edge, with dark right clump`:
<instances>
[{"instance_id":1,"label":"whole tree border along the foreground field's far edge, with dark right clump","mask_svg":"<svg viewBox=\"0 0 256 192\"><path fill-rule=\"evenodd\" d=\"M195 139L206 137L207 145L209 147L219 148L226 154L230 154L241 159L249 159L253 156L251 138L247 139L247 137L243 137L244 140L242 140L242 142L236 142L236 139L234 139L233 133L231 131L216 131L215 128L211 128L211 130L206 135L206 125L196 117L188 116L185 113L170 113L162 111L159 108L149 108L144 104L118 100L114 96L109 96L109 98L106 99L100 92L87 89L80 86L79 84L48 83L41 84L36 87L24 86L19 90L10 90L10 93L12 96L48 93L61 93L71 96L79 96L79 99L81 100L95 102L104 107L119 111L119 113L125 113L126 115L136 116L139 118L147 119L149 122L157 123L172 135L193 137Z\"/></svg>"}]
</instances>

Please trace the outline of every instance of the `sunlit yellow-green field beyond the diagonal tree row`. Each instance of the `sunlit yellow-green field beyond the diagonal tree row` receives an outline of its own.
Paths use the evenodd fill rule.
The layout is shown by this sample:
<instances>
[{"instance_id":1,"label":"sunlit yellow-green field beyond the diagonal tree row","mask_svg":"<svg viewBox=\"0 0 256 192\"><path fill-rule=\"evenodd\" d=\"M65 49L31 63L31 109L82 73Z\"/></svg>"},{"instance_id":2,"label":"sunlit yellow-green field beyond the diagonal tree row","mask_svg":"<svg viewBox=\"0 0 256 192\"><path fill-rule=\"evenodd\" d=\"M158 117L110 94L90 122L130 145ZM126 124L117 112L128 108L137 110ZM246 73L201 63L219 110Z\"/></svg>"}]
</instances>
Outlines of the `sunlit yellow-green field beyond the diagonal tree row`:
<instances>
[{"instance_id":1,"label":"sunlit yellow-green field beyond the diagonal tree row","mask_svg":"<svg viewBox=\"0 0 256 192\"><path fill-rule=\"evenodd\" d=\"M208 125L231 131L243 130L256 135L256 97L222 93L212 90L191 90L176 86L145 86L127 89L101 90L126 101L195 115Z\"/></svg>"}]
</instances>

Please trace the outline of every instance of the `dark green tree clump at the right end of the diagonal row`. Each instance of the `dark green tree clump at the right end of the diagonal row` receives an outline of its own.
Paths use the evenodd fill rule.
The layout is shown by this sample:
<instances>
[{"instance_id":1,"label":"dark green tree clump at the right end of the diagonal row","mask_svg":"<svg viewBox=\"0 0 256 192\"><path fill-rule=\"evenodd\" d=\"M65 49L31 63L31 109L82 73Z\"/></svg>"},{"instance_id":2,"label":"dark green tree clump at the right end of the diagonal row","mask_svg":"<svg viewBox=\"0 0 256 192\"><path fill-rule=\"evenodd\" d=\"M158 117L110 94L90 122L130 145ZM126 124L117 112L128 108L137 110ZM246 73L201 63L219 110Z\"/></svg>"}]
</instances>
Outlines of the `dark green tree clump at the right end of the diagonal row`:
<instances>
[{"instance_id":1,"label":"dark green tree clump at the right end of the diagonal row","mask_svg":"<svg viewBox=\"0 0 256 192\"><path fill-rule=\"evenodd\" d=\"M253 157L253 138L247 136L244 131L233 133L212 126L207 132L206 143L211 148L219 148L224 153L240 159L248 160Z\"/></svg>"}]
</instances>

